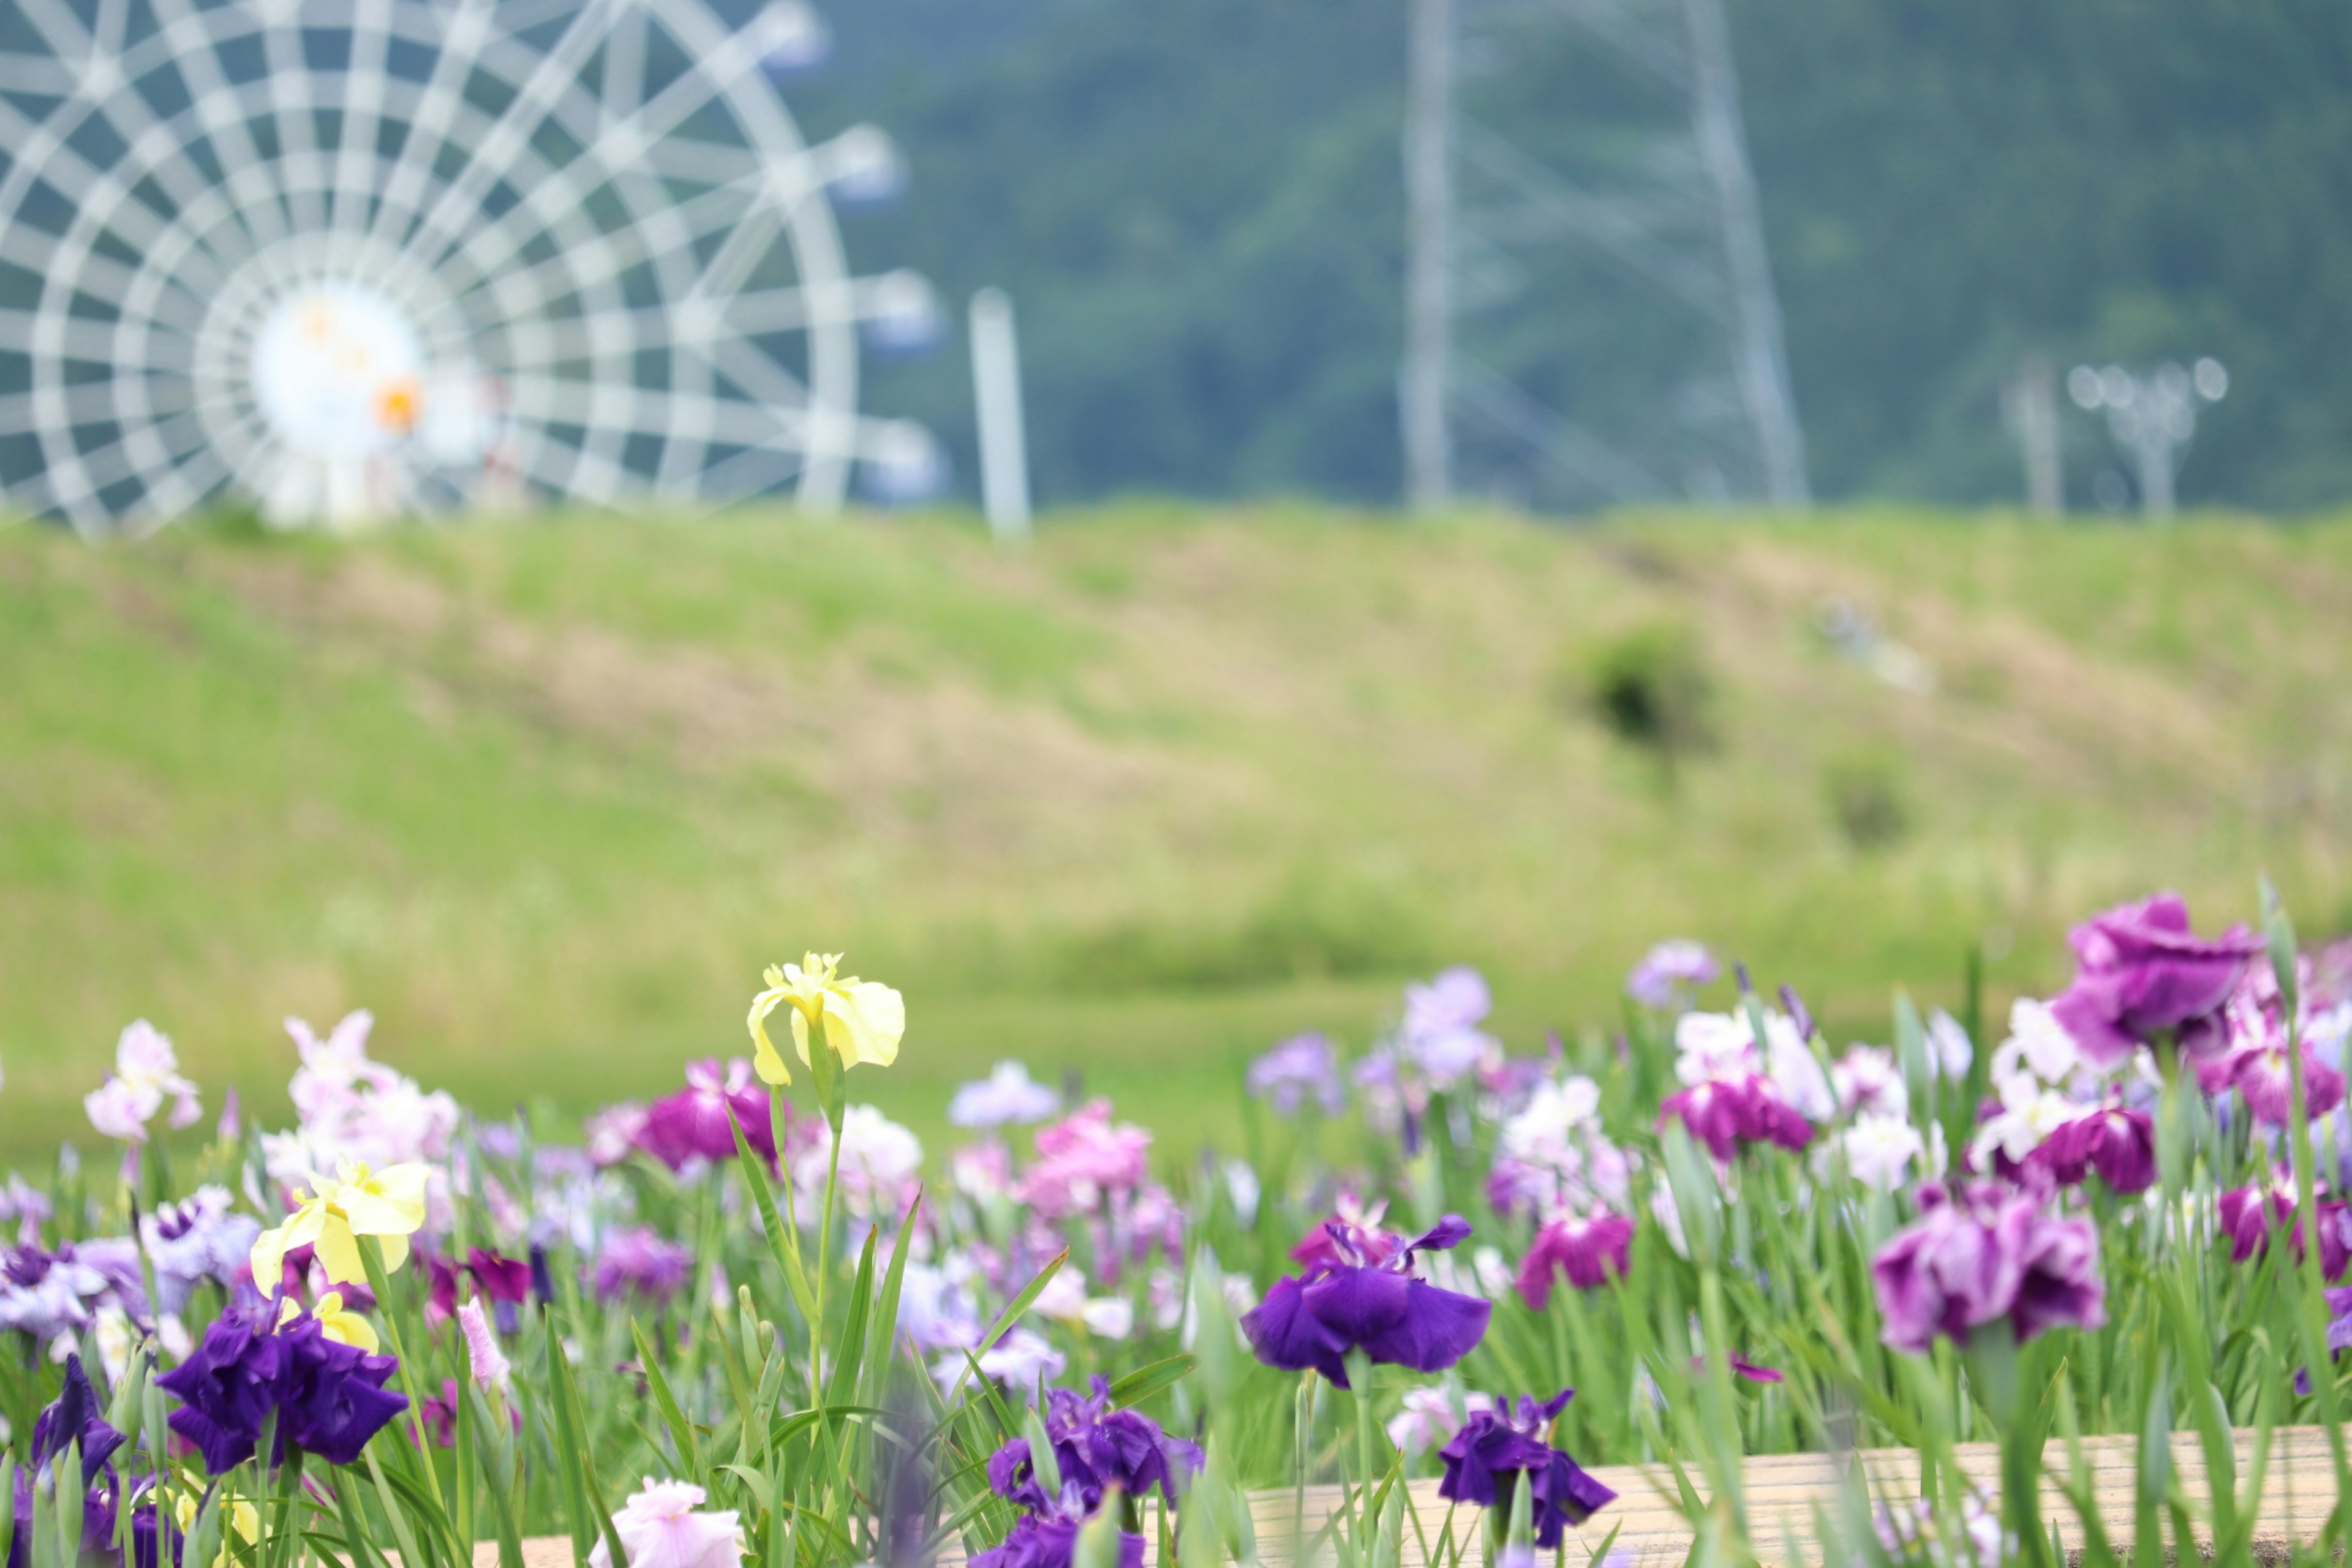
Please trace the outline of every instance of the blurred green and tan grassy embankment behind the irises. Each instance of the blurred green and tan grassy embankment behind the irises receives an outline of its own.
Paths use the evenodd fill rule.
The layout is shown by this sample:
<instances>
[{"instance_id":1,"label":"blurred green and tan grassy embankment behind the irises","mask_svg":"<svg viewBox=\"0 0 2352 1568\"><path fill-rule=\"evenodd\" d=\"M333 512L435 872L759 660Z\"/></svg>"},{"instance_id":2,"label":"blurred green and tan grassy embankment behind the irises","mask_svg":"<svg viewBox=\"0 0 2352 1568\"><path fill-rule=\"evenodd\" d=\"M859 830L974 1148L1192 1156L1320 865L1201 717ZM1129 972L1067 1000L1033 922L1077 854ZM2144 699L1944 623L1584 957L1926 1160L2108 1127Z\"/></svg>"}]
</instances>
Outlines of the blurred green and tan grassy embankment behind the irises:
<instances>
[{"instance_id":1,"label":"blurred green and tan grassy embankment behind the irises","mask_svg":"<svg viewBox=\"0 0 2352 1568\"><path fill-rule=\"evenodd\" d=\"M1994 999L2058 985L2067 922L2154 886L2211 924L2270 870L2352 922L2347 611L2333 522L19 527L0 1145L94 1143L136 1016L214 1103L280 1107L278 1020L369 1006L428 1086L572 1117L743 1051L809 947L906 990L854 1093L927 1135L1011 1053L1230 1147L1284 1032L1362 1046L1470 961L1538 1048L1668 933L1884 1037L1898 980L1950 1001L1980 945ZM1712 689L1672 769L1585 701L1656 628Z\"/></svg>"}]
</instances>

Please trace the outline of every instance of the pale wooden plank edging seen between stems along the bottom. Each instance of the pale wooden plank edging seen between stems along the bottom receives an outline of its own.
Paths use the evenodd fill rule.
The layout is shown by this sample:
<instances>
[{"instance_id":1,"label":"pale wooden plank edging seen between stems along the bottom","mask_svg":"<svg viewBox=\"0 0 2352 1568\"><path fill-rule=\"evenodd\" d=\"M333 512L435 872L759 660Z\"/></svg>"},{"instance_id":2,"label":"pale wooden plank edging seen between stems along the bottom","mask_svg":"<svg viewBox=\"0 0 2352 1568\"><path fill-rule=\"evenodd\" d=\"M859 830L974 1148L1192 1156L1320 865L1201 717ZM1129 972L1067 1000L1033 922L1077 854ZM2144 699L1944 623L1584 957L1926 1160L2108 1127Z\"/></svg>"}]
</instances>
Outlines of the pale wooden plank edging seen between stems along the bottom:
<instances>
[{"instance_id":1,"label":"pale wooden plank edging seen between stems along the bottom","mask_svg":"<svg viewBox=\"0 0 2352 1568\"><path fill-rule=\"evenodd\" d=\"M2234 1434L2234 1474L2244 1488L2246 1462L2253 1453L2253 1432ZM2091 1469L2091 1495L2098 1502L2100 1523L2110 1540L2124 1549L2131 1542L2133 1502L2138 1495L2138 1441L2129 1436L2084 1439L2084 1460ZM2204 1514L2206 1469L2204 1448L2190 1432L2176 1432L2173 1474L2192 1502L2192 1512ZM1863 1474L1870 1476L1875 1497L1915 1497L1919 1493L1919 1455L1907 1448L1872 1448L1856 1455ZM2051 1443L2046 1462L2053 1472L2065 1472L2063 1443ZM1962 1443L1962 1472L1983 1488L1987 1502L1999 1497L1999 1450L1992 1443ZM1675 1505L1672 1474L1661 1465L1604 1465L1592 1472L1602 1486L1616 1490L1618 1500L1592 1516L1566 1540L1569 1568L1588 1568L1592 1552L1616 1530L1613 1554L1623 1554L1635 1568L1670 1568L1691 1552L1691 1526ZM1705 1476L1691 1472L1691 1483L1705 1497ZM1748 1495L1748 1526L1757 1556L1766 1568L1818 1568L1820 1547L1813 1540L1813 1512L1835 1512L1839 1505L1842 1472L1837 1460L1820 1453L1759 1455L1740 1467L1740 1486ZM1463 1547L1463 1561L1479 1561L1479 1509L1456 1509L1437 1495L1437 1481L1414 1481L1406 1500L1421 1521L1404 1526L1402 1568L1428 1568L1428 1554L1442 1549L1451 1523L1454 1540ZM1341 1488L1310 1486L1305 1490L1308 1533L1317 1530L1341 1505ZM1251 1516L1258 1530L1258 1561L1265 1568L1289 1568L1296 1559L1291 1533L1294 1493L1256 1493ZM2260 1556L2274 1556L2288 1542L2310 1542L2336 1507L2336 1467L2328 1458L2328 1436L2321 1427L2281 1427L2272 1432L2270 1462L2263 1500L2256 1507L2256 1544ZM2074 1507L2056 1486L2042 1488L2042 1514L2058 1523L2067 1549L2082 1544L2082 1526ZM1157 1544L1145 1533L1148 1559L1157 1556ZM2199 1537L2204 1544L2204 1537ZM499 1568L499 1552L485 1542L475 1547L475 1568ZM960 1568L962 1554L953 1547L941 1554L941 1568ZM569 1537L541 1537L522 1542L522 1568L572 1568Z\"/></svg>"}]
</instances>

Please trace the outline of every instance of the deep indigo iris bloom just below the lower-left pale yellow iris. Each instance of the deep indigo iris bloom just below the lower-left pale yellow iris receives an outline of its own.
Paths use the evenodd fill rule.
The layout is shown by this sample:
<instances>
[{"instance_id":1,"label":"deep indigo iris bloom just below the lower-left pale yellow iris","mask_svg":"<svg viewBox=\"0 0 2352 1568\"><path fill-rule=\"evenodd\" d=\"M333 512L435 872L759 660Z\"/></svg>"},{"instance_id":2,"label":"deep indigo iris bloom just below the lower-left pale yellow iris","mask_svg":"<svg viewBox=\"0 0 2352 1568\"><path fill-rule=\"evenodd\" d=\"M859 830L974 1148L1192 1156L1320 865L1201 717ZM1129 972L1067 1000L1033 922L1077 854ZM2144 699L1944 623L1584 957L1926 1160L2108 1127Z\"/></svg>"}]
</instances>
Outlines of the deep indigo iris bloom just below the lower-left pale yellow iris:
<instances>
[{"instance_id":1,"label":"deep indigo iris bloom just below the lower-left pale yellow iris","mask_svg":"<svg viewBox=\"0 0 2352 1568\"><path fill-rule=\"evenodd\" d=\"M195 1354L155 1387L181 1401L169 1415L172 1432L195 1443L205 1469L219 1476L254 1455L270 1410L280 1446L350 1465L367 1439L409 1408L407 1396L383 1387L395 1366L393 1356L329 1340L313 1316L270 1328L263 1307L214 1319Z\"/></svg>"}]
</instances>

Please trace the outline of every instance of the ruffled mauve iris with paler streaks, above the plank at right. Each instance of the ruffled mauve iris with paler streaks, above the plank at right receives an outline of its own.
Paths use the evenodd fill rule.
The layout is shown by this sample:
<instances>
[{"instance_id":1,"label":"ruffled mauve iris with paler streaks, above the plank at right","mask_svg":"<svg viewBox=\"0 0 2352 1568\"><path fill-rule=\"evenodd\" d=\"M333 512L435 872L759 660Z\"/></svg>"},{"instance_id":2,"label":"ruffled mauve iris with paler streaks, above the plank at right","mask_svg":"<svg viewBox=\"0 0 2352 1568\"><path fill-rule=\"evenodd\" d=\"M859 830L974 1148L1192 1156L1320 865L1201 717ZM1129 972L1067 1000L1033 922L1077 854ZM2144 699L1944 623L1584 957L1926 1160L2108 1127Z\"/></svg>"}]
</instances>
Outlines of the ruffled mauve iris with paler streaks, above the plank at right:
<instances>
[{"instance_id":1,"label":"ruffled mauve iris with paler streaks, above the plank at right","mask_svg":"<svg viewBox=\"0 0 2352 1568\"><path fill-rule=\"evenodd\" d=\"M1896 1234L1870 1265L1882 1338L1926 1352L1936 1335L1957 1342L1980 1324L2009 1319L2018 1342L2044 1328L2107 1321L2098 1279L2098 1232L2089 1220L2044 1213L2044 1192L1976 1182L1919 1190L1926 1213Z\"/></svg>"}]
</instances>

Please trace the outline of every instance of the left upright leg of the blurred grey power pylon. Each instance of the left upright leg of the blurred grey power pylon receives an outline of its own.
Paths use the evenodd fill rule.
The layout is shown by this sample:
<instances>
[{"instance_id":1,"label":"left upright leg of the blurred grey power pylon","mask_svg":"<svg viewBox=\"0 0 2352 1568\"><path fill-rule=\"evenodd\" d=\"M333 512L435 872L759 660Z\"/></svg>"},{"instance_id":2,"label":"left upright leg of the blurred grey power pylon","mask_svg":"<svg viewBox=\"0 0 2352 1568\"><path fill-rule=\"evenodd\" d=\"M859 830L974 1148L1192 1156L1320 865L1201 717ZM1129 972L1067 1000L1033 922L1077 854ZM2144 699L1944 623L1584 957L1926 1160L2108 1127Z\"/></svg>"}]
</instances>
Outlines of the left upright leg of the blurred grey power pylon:
<instances>
[{"instance_id":1,"label":"left upright leg of the blurred grey power pylon","mask_svg":"<svg viewBox=\"0 0 2352 1568\"><path fill-rule=\"evenodd\" d=\"M1404 503L1454 494L1454 0L1411 0L1404 103Z\"/></svg>"}]
</instances>

